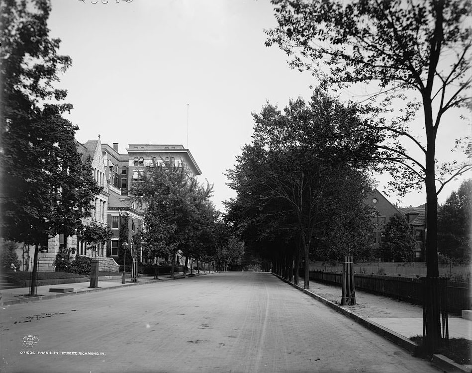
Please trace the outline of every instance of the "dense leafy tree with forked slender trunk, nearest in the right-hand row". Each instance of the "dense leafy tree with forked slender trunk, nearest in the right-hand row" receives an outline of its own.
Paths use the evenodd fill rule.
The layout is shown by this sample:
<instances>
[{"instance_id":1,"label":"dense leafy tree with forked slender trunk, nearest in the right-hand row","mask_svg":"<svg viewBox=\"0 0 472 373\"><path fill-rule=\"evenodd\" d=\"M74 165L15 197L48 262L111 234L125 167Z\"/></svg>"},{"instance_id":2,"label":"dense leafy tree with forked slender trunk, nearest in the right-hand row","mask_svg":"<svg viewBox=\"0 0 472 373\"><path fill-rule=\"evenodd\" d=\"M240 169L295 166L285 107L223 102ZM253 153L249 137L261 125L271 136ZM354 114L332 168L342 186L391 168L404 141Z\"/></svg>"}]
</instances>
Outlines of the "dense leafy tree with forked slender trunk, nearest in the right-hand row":
<instances>
[{"instance_id":1,"label":"dense leafy tree with forked slender trunk, nearest in the right-hand row","mask_svg":"<svg viewBox=\"0 0 472 373\"><path fill-rule=\"evenodd\" d=\"M289 226L294 230L290 236L308 264L316 228L340 208L342 180L363 170L372 159L377 133L362 127L356 107L344 106L320 89L314 91L308 103L301 98L290 101L283 113L267 104L260 114L253 115L253 145L245 150L257 157L244 159L236 172L228 173L235 180L230 186L236 187L243 202L230 201L228 206L233 210L247 208L244 201L248 197L238 188L251 188L247 184L250 173L252 189L246 191L254 195L252 201L264 208L271 204L282 208L272 213L268 209L256 212L254 221L276 214L284 216L291 222ZM304 279L305 288L309 288L307 265Z\"/></svg>"}]
</instances>

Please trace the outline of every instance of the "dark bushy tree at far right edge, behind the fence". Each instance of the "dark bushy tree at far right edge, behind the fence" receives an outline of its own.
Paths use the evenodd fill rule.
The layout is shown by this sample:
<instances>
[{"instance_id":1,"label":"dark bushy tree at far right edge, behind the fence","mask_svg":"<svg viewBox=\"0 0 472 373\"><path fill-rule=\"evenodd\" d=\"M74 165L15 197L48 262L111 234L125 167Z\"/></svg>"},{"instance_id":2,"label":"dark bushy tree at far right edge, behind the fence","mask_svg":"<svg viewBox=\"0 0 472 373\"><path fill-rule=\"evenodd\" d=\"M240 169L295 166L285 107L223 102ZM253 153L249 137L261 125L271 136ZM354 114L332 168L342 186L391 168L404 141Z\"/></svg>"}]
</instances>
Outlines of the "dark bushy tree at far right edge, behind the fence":
<instances>
[{"instance_id":1,"label":"dark bushy tree at far right edge, behind the fence","mask_svg":"<svg viewBox=\"0 0 472 373\"><path fill-rule=\"evenodd\" d=\"M438 209L438 251L449 258L471 258L472 180L464 181Z\"/></svg>"}]
</instances>

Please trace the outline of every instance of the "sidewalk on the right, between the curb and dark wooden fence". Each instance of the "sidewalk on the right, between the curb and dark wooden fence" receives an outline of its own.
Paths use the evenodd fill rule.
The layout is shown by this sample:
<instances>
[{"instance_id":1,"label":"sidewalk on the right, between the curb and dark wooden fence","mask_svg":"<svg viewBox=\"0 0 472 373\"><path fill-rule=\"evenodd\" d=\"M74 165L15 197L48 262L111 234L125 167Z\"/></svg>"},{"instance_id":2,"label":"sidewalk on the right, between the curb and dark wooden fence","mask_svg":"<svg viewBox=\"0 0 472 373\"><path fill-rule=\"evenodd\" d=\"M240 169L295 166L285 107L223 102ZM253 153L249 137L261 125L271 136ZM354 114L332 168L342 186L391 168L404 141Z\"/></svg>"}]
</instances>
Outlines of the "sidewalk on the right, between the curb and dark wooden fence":
<instances>
[{"instance_id":1,"label":"sidewalk on the right, between the curb and dark wooden fence","mask_svg":"<svg viewBox=\"0 0 472 373\"><path fill-rule=\"evenodd\" d=\"M341 286L310 280L310 288L307 290L302 288L303 278L300 278L301 286L288 283L411 353L414 353L416 346L409 338L423 335L421 305L356 289L356 305L341 306ZM471 320L463 319L459 315L449 315L448 324L449 338L472 340ZM442 355L434 355L432 362L443 372L472 372L472 365L461 366Z\"/></svg>"}]
</instances>

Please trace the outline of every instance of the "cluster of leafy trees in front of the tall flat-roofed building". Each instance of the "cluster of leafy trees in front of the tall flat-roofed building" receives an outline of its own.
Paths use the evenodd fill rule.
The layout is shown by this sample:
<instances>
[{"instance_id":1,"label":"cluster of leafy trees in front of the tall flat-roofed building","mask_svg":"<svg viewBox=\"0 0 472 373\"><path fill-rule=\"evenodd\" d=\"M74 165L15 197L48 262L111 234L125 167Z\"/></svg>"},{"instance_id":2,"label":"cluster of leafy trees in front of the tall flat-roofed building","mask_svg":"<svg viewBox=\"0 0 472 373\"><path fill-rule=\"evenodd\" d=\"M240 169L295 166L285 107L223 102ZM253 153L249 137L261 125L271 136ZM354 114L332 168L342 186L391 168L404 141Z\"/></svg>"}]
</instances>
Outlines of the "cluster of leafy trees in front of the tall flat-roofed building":
<instances>
[{"instance_id":1,"label":"cluster of leafy trees in front of the tall flat-roofed building","mask_svg":"<svg viewBox=\"0 0 472 373\"><path fill-rule=\"evenodd\" d=\"M185 163L167 160L147 166L130 188L130 199L144 208L146 229L140 233L145 257L167 257L174 276L177 253L222 270L240 264L243 248L210 201L213 186L190 178ZM136 236L136 235L135 235Z\"/></svg>"}]
</instances>

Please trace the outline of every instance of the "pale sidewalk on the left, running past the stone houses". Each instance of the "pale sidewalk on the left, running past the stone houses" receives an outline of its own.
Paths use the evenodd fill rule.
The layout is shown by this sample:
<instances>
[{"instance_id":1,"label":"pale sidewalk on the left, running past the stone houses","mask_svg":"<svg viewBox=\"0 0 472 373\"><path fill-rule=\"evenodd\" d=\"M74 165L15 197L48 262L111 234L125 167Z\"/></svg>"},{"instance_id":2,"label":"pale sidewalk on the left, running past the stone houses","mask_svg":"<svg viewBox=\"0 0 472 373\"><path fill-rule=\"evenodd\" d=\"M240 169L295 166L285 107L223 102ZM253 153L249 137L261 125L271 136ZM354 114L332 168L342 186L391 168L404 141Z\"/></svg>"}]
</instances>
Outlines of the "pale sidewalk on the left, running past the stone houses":
<instances>
[{"instance_id":1,"label":"pale sidewalk on the left, running past the stone houses","mask_svg":"<svg viewBox=\"0 0 472 373\"><path fill-rule=\"evenodd\" d=\"M205 275L204 273L196 276ZM184 276L182 273L175 275L175 280L183 279ZM38 286L36 291L36 296L29 295L29 287L16 287L12 289L2 289L0 290L0 306L5 306L9 304L16 303L27 303L40 300L53 299L60 296L70 296L81 293L88 293L91 291L101 291L107 289L114 289L123 286L137 286L153 282L162 282L166 280L172 280L170 275L161 275L159 280L154 280L153 276L150 277L139 277L139 282L131 282L131 275L127 275L126 283L122 283L121 276L107 276L104 278L98 278L98 288L90 288L90 279L84 279L84 282L75 282L75 283L63 283L59 285L44 285ZM60 288L60 287L72 287L74 290L72 292L60 293L60 292L50 292L49 289Z\"/></svg>"}]
</instances>

